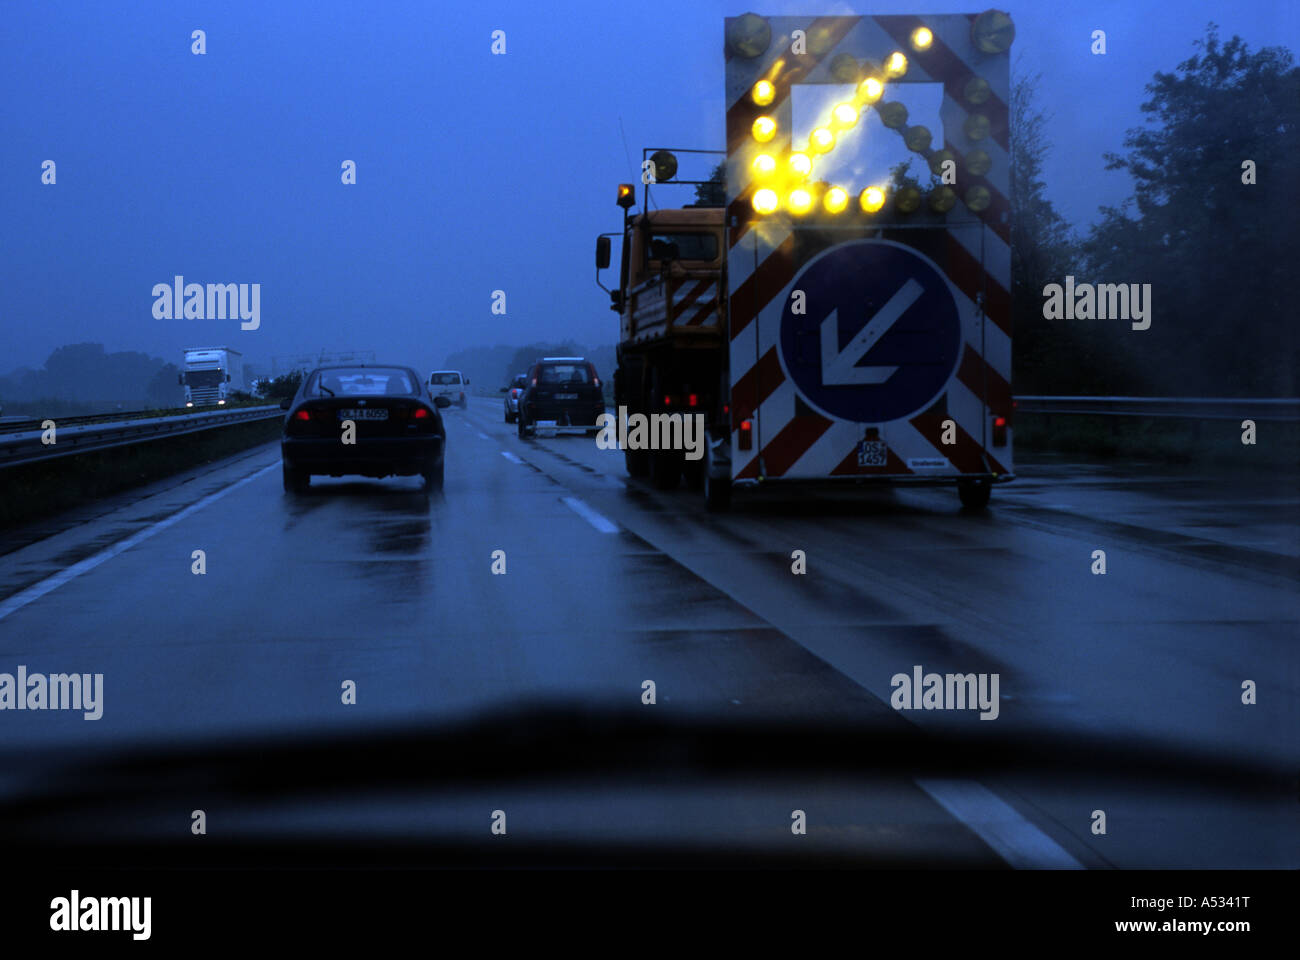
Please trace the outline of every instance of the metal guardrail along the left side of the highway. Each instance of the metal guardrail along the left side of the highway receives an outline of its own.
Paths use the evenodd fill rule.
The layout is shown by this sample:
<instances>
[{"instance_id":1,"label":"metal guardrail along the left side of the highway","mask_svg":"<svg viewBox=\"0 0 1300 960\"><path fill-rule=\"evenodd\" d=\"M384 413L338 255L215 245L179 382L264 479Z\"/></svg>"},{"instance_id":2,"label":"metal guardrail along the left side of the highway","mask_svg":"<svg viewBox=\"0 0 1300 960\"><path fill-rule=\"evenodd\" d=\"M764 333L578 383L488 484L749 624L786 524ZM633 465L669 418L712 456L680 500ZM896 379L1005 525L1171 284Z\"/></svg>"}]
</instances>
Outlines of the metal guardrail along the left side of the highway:
<instances>
[{"instance_id":1,"label":"metal guardrail along the left side of the highway","mask_svg":"<svg viewBox=\"0 0 1300 960\"><path fill-rule=\"evenodd\" d=\"M55 457L69 457L91 450L107 450L114 446L140 444L161 437L196 433L216 427L230 427L237 423L269 420L283 415L285 411L276 405L96 423L75 423L79 418L69 418L73 423L65 424L53 416L49 418L55 421L56 427L53 444L42 442L46 432L39 428L0 433L0 467L12 467L20 463L46 460ZM5 427L8 428L10 424L5 424Z\"/></svg>"}]
</instances>

